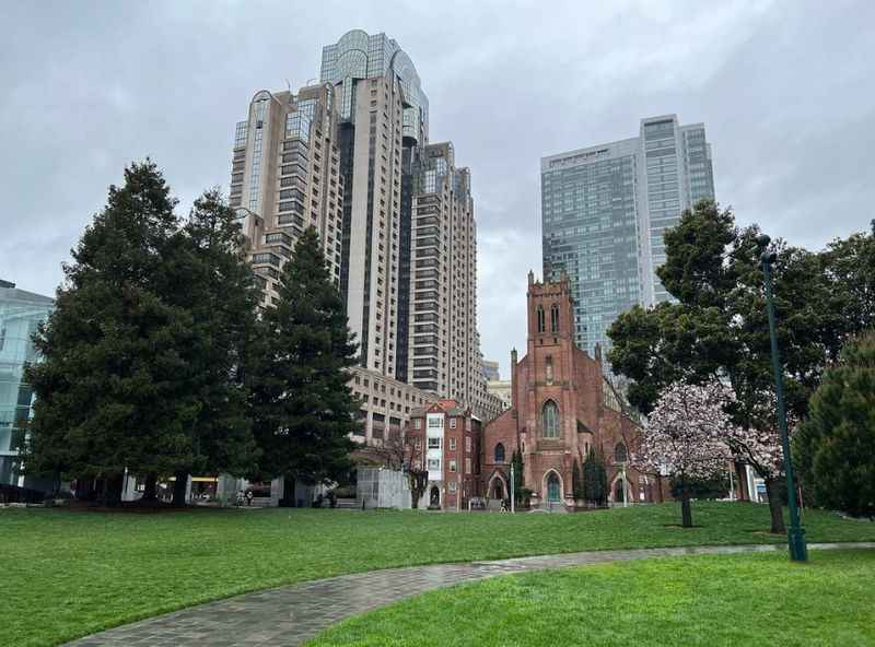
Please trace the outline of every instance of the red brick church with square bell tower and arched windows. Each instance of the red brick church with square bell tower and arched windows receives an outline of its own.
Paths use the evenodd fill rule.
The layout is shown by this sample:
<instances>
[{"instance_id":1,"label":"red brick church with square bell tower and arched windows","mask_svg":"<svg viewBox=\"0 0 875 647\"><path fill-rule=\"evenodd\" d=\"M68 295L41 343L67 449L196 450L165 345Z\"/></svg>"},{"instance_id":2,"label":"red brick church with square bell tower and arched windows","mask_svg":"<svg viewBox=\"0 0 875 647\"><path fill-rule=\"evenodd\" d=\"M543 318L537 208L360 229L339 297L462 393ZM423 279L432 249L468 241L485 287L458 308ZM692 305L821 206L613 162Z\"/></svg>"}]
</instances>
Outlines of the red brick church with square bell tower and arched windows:
<instances>
[{"instance_id":1,"label":"red brick church with square bell tower and arched windows","mask_svg":"<svg viewBox=\"0 0 875 647\"><path fill-rule=\"evenodd\" d=\"M538 283L529 272L527 298L526 355L511 353L511 408L483 430L480 492L508 496L520 448L532 507L573 509L572 467L593 447L605 458L610 504L662 501L664 484L627 464L639 426L605 378L600 351L591 357L574 344L568 279Z\"/></svg>"}]
</instances>

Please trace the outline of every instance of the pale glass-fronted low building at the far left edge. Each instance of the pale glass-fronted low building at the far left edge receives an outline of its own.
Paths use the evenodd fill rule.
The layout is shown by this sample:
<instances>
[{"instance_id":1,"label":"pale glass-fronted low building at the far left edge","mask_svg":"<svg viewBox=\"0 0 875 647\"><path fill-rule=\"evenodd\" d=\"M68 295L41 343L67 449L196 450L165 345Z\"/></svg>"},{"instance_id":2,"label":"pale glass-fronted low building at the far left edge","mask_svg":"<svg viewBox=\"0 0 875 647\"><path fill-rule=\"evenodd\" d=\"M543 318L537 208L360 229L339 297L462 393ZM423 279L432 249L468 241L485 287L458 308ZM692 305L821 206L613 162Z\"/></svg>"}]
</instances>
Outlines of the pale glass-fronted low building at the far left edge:
<instances>
[{"instance_id":1,"label":"pale glass-fronted low building at the far left edge","mask_svg":"<svg viewBox=\"0 0 875 647\"><path fill-rule=\"evenodd\" d=\"M0 282L0 483L19 484L15 462L22 421L31 416L33 393L24 367L38 354L31 337L48 317L54 301Z\"/></svg>"}]
</instances>

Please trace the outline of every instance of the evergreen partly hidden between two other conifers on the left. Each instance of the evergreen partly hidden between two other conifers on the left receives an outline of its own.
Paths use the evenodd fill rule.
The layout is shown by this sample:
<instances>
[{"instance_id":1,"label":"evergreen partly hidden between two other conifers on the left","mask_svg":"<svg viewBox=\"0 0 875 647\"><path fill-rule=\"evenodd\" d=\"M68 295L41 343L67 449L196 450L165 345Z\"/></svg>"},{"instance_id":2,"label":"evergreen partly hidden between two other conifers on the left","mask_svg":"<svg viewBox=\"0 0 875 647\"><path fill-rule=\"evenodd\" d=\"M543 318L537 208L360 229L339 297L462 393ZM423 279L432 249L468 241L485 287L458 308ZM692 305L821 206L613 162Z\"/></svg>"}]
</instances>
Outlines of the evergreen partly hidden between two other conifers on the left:
<instances>
[{"instance_id":1,"label":"evergreen partly hidden between two other conifers on the left","mask_svg":"<svg viewBox=\"0 0 875 647\"><path fill-rule=\"evenodd\" d=\"M241 223L218 189L195 201L175 245L166 293L192 315L186 358L199 403L189 430L194 460L176 473L174 503L182 505L189 472L243 475L255 469L243 368L256 339L260 291L242 251Z\"/></svg>"}]
</instances>

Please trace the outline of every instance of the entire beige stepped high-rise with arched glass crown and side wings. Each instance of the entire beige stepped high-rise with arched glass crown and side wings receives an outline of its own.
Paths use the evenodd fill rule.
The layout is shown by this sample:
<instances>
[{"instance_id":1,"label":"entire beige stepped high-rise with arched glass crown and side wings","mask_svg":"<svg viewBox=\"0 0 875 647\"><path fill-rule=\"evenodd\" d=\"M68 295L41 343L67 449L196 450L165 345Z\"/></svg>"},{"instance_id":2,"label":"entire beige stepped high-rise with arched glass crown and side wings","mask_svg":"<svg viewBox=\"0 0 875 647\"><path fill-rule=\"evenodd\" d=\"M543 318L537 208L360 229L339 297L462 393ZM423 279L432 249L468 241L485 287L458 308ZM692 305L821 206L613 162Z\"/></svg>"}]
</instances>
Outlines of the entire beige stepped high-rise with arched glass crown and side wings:
<instances>
[{"instance_id":1,"label":"entire beige stepped high-rise with arched glass crown and side wings","mask_svg":"<svg viewBox=\"0 0 875 647\"><path fill-rule=\"evenodd\" d=\"M413 403L454 398L483 420L495 409L479 363L470 172L428 131L412 61L361 30L323 48L319 84L258 92L236 130L231 204L264 303L315 226L360 344L368 442L390 437Z\"/></svg>"}]
</instances>

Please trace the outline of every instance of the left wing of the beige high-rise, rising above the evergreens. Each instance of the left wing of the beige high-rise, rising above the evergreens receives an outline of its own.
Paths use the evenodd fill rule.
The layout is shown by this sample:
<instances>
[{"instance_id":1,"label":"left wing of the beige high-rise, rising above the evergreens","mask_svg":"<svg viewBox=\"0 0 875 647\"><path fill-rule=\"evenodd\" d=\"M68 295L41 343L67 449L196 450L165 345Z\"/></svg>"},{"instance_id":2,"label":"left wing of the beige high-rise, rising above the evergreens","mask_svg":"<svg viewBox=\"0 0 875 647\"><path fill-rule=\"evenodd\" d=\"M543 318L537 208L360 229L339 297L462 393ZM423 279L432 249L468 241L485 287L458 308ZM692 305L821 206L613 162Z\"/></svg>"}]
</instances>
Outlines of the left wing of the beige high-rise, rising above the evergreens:
<instances>
[{"instance_id":1,"label":"left wing of the beige high-rise, rising above the evergreens","mask_svg":"<svg viewBox=\"0 0 875 647\"><path fill-rule=\"evenodd\" d=\"M240 121L231 169L231 207L244 219L248 252L265 303L276 298L280 268L313 226L340 283L343 180L335 141L334 87L298 94L262 90Z\"/></svg>"}]
</instances>

